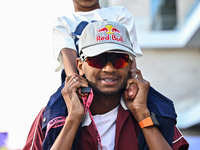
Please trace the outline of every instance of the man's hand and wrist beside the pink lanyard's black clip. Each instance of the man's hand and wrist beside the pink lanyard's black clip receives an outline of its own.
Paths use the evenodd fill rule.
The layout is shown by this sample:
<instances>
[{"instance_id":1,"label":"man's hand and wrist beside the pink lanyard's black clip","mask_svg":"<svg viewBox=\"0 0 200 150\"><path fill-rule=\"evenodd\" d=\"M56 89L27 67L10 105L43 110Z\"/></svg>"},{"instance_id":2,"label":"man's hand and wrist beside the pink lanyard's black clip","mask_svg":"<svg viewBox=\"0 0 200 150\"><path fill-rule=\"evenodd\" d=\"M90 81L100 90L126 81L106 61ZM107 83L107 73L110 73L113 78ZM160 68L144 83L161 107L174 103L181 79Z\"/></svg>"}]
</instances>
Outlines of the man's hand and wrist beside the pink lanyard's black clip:
<instances>
[{"instance_id":1,"label":"man's hand and wrist beside the pink lanyard's black clip","mask_svg":"<svg viewBox=\"0 0 200 150\"><path fill-rule=\"evenodd\" d=\"M88 82L85 78L77 74L66 77L65 86L61 93L67 106L68 117L72 116L82 119L84 116L84 107L80 100L84 96L80 92L81 87L88 87Z\"/></svg>"}]
</instances>

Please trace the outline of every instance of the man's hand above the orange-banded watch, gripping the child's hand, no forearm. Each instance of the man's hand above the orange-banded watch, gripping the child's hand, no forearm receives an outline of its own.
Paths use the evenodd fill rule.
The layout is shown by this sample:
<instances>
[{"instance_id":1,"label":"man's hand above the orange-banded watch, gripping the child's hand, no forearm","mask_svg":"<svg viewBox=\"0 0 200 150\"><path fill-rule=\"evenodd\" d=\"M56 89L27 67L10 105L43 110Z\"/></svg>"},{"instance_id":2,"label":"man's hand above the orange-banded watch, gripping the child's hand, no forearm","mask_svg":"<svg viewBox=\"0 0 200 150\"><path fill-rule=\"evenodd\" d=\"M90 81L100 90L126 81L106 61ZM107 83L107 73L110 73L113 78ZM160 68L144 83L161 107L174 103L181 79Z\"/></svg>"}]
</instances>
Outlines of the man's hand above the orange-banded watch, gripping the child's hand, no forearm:
<instances>
[{"instance_id":1,"label":"man's hand above the orange-banded watch, gripping the child's hand, no forearm","mask_svg":"<svg viewBox=\"0 0 200 150\"><path fill-rule=\"evenodd\" d=\"M124 92L124 101L138 122L150 116L147 108L149 87L150 83L143 79L140 70L130 70L130 77Z\"/></svg>"}]
</instances>

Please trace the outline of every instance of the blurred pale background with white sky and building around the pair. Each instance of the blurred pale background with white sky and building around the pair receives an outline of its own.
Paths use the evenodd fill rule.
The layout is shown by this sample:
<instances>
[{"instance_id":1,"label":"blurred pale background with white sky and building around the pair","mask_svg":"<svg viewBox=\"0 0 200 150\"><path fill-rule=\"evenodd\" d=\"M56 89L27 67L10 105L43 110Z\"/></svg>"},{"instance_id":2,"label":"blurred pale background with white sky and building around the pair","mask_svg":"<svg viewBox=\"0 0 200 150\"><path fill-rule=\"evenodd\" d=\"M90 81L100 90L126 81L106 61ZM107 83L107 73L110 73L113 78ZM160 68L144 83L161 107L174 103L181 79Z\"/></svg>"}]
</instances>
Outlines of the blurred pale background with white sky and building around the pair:
<instances>
[{"instance_id":1,"label":"blurred pale background with white sky and building around the pair","mask_svg":"<svg viewBox=\"0 0 200 150\"><path fill-rule=\"evenodd\" d=\"M200 141L200 0L100 0L134 16L144 56L138 68L170 98L177 126L197 150ZM0 144L22 149L31 124L60 85L52 49L57 16L72 0L0 1ZM4 139L4 140L3 140ZM2 147L3 147L2 146Z\"/></svg>"}]
</instances>

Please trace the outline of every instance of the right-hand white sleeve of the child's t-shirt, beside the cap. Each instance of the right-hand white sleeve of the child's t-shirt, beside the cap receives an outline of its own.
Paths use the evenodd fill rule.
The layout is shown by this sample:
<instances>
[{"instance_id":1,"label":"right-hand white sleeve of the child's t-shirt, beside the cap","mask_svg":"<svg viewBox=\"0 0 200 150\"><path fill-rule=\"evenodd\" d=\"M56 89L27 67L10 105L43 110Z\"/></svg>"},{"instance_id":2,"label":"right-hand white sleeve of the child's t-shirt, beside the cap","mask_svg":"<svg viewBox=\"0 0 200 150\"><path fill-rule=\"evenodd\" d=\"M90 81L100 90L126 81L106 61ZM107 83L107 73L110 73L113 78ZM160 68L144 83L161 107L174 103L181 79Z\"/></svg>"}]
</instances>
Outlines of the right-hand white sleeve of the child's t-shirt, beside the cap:
<instances>
[{"instance_id":1,"label":"right-hand white sleeve of the child's t-shirt, beside the cap","mask_svg":"<svg viewBox=\"0 0 200 150\"><path fill-rule=\"evenodd\" d=\"M142 56L143 54L137 40L133 15L125 7L120 6L117 10L116 21L126 26L129 32L130 40L133 44L134 52L137 54L137 56Z\"/></svg>"}]
</instances>

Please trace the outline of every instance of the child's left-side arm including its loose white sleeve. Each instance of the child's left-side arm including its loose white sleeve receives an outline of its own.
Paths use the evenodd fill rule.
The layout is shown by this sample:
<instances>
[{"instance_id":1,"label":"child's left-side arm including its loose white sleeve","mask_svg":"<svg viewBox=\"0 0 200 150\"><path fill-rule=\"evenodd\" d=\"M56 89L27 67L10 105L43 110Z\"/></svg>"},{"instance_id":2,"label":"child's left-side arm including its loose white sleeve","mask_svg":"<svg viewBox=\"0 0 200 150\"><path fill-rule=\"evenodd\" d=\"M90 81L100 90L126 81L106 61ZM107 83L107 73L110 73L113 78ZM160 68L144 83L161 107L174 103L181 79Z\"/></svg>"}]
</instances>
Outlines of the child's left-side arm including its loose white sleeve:
<instances>
[{"instance_id":1,"label":"child's left-side arm including its loose white sleeve","mask_svg":"<svg viewBox=\"0 0 200 150\"><path fill-rule=\"evenodd\" d=\"M77 51L68 21L68 17L58 17L53 25L52 36L54 55L60 62L56 72L64 67L66 75L70 76L74 73L77 74Z\"/></svg>"}]
</instances>

